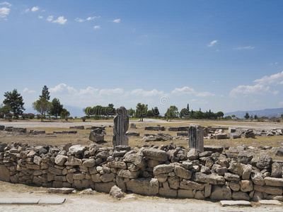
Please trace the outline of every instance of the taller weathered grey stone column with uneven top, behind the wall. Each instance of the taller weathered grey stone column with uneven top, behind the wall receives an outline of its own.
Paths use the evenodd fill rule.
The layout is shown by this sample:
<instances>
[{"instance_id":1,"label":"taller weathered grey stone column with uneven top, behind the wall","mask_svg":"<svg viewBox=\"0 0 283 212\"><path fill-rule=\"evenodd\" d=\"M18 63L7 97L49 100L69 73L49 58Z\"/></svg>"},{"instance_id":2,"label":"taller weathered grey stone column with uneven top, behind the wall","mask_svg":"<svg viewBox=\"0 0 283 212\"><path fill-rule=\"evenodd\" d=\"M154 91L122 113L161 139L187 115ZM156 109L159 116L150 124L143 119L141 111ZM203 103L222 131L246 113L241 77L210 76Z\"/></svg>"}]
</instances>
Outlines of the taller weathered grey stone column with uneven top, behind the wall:
<instances>
[{"instance_id":1,"label":"taller weathered grey stone column with uneven top, behind the wall","mask_svg":"<svg viewBox=\"0 0 283 212\"><path fill-rule=\"evenodd\" d=\"M126 132L129 128L129 111L125 107L119 107L115 110L113 126L113 146L129 146L129 139Z\"/></svg>"}]
</instances>

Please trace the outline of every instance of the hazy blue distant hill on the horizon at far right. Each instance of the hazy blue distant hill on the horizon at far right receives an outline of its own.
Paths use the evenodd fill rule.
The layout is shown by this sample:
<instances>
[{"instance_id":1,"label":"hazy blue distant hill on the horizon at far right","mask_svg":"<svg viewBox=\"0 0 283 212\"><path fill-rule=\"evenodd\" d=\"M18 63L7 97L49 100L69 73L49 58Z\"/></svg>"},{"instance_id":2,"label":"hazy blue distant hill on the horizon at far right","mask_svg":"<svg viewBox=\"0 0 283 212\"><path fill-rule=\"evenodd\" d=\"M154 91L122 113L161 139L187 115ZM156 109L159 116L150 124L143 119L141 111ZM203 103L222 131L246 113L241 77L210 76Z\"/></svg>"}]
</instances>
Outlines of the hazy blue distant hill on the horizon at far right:
<instances>
[{"instance_id":1,"label":"hazy blue distant hill on the horizon at far right","mask_svg":"<svg viewBox=\"0 0 283 212\"><path fill-rule=\"evenodd\" d=\"M251 116L255 117L257 115L258 117L281 117L281 114L283 114L283 108L272 108L272 109L265 109L265 110L246 110L246 111L235 111L235 112L226 112L224 116L232 116L233 114L236 115L236 117L243 119L246 115L246 112Z\"/></svg>"}]
</instances>

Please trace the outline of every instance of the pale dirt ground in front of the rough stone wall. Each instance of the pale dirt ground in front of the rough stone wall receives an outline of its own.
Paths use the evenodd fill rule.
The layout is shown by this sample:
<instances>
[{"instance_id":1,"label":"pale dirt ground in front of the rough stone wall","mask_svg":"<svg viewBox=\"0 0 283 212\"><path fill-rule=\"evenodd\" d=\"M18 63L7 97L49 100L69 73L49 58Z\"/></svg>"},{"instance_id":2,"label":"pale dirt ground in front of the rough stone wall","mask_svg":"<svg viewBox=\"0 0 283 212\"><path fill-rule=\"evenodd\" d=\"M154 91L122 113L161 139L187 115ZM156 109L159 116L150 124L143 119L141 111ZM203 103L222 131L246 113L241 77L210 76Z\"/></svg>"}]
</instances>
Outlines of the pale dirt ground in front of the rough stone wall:
<instances>
[{"instance_id":1,"label":"pale dirt ground in front of the rough stone wall","mask_svg":"<svg viewBox=\"0 0 283 212\"><path fill-rule=\"evenodd\" d=\"M90 195L79 194L79 192L76 192L76 194L48 194L47 188L0 182L0 198L64 197L66 199L64 204L60 205L0 205L0 211L283 211L282 206L262 206L255 202L252 202L253 207L222 207L219 201L171 199L130 193L125 194L122 199L115 199L104 193L96 192Z\"/></svg>"}]
</instances>

